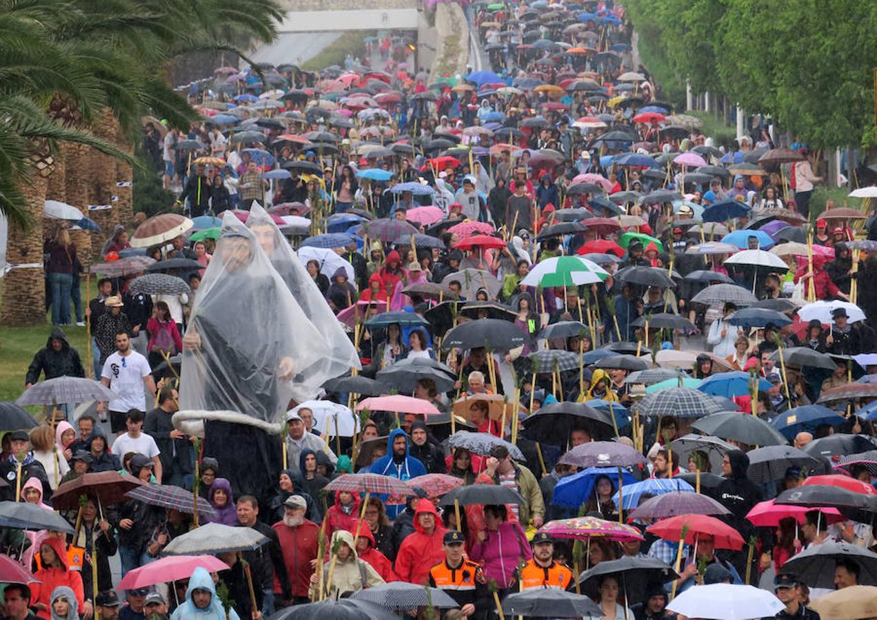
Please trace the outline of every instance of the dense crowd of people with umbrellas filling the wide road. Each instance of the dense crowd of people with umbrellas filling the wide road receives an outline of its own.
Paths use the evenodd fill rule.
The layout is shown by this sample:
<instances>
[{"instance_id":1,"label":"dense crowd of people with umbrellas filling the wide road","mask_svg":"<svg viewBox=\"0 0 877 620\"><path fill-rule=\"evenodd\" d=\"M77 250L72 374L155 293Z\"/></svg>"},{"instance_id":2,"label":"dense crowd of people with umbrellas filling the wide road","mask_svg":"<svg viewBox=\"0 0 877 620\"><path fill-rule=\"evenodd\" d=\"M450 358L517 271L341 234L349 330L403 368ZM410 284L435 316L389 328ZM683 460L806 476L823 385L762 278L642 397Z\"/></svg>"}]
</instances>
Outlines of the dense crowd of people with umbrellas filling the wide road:
<instances>
[{"instance_id":1,"label":"dense crowd of people with umbrellas filling the wide road","mask_svg":"<svg viewBox=\"0 0 877 620\"><path fill-rule=\"evenodd\" d=\"M764 616L813 620L877 585L869 214L815 215L816 162L768 121L717 144L674 114L622 6L466 10L491 71L429 83L382 33L383 71L222 67L192 86L203 122L147 122L175 219L111 232L96 297L72 298L84 363L61 328L75 245L47 243L55 327L25 387L113 398L6 433L0 494L51 511L118 471L210 510L83 496L75 533L5 527L39 580L5 616L260 620L404 581L455 603L420 617L546 588L661 620L760 583ZM119 598L112 556L124 577L205 523L267 544Z\"/></svg>"}]
</instances>

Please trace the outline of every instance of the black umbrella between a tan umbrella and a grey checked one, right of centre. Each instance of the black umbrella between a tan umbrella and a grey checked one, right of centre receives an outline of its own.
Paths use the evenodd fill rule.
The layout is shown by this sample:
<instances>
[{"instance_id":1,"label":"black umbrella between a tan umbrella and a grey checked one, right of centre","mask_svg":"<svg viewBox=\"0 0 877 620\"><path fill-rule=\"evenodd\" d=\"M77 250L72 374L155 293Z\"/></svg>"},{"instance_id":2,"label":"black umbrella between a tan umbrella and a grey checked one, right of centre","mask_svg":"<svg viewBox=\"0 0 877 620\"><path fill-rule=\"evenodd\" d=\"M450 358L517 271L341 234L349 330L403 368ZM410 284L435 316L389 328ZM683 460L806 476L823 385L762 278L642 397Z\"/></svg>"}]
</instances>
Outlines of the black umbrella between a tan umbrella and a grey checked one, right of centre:
<instances>
[{"instance_id":1,"label":"black umbrella between a tan umbrella and a grey checked one, right of centre","mask_svg":"<svg viewBox=\"0 0 877 620\"><path fill-rule=\"evenodd\" d=\"M584 403L552 403L524 418L524 437L534 441L567 447L570 433L583 428L595 440L609 440L615 427L609 414Z\"/></svg>"}]
</instances>

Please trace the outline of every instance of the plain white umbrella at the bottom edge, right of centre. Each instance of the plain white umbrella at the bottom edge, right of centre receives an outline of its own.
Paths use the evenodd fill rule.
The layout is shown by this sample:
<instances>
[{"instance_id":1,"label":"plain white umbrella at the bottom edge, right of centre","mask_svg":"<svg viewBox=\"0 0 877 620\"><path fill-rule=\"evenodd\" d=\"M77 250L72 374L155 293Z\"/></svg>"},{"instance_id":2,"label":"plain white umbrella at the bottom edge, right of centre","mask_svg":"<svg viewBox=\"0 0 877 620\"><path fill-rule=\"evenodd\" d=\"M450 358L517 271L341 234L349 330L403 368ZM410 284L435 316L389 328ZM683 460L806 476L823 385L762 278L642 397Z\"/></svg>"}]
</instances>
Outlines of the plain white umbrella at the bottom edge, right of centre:
<instances>
[{"instance_id":1,"label":"plain white umbrella at the bottom edge, right of centre","mask_svg":"<svg viewBox=\"0 0 877 620\"><path fill-rule=\"evenodd\" d=\"M667 609L689 618L747 620L773 617L786 606L767 590L732 583L693 586L676 596Z\"/></svg>"}]
</instances>

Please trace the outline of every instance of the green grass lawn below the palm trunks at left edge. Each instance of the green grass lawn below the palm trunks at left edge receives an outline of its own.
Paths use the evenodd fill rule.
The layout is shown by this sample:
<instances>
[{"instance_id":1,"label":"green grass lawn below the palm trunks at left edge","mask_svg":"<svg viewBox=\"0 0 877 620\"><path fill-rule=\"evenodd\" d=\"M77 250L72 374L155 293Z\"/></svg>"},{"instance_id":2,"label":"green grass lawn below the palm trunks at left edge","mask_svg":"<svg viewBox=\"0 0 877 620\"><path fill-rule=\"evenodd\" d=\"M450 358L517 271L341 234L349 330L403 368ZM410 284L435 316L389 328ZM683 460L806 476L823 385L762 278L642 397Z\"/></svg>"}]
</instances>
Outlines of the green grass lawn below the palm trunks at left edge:
<instances>
[{"instance_id":1,"label":"green grass lawn below the palm trunks at left edge","mask_svg":"<svg viewBox=\"0 0 877 620\"><path fill-rule=\"evenodd\" d=\"M97 292L95 278L91 280L91 294L85 288L82 281L82 303L87 304ZM71 306L70 312L73 312ZM75 317L70 317L75 321ZM88 369L88 346L85 328L77 328L70 325L64 329L70 346L79 351L82 357L82 365ZM14 401L25 390L25 374L33 356L39 349L46 346L46 339L52 331L51 316L46 314L46 325L32 328L0 328L0 400ZM39 407L28 407L32 412L39 411Z\"/></svg>"}]
</instances>

